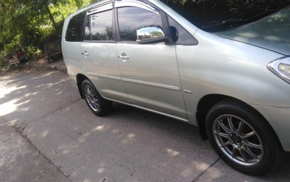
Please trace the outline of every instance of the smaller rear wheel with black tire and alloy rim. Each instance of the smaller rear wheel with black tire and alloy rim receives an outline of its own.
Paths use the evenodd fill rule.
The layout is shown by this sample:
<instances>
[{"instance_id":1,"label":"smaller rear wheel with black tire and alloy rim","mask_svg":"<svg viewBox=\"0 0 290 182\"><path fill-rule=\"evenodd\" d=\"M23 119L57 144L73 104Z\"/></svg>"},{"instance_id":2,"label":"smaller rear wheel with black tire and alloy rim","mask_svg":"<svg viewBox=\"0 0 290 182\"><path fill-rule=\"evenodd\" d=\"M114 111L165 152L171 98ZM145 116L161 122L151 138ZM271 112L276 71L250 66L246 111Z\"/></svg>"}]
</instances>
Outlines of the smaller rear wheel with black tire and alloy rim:
<instances>
[{"instance_id":1,"label":"smaller rear wheel with black tire and alloy rim","mask_svg":"<svg viewBox=\"0 0 290 182\"><path fill-rule=\"evenodd\" d=\"M85 91L85 89L88 88L91 89L91 96L88 96L88 94ZM82 92L89 109L95 115L104 116L110 113L110 111L112 110L112 102L109 100L105 100L88 79L85 79L82 83ZM91 102L90 100L93 101ZM98 103L99 107L96 107L95 103Z\"/></svg>"}]
</instances>

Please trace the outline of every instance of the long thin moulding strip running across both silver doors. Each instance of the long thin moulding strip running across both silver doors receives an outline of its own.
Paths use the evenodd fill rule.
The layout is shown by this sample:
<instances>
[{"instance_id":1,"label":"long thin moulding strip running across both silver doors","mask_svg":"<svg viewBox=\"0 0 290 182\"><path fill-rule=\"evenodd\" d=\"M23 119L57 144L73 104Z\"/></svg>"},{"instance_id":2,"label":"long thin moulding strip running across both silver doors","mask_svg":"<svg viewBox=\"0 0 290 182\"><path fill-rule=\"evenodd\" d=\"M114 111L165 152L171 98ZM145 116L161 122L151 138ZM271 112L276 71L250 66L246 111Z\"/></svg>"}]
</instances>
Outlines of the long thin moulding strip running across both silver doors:
<instances>
[{"instance_id":1,"label":"long thin moulding strip running across both silver doors","mask_svg":"<svg viewBox=\"0 0 290 182\"><path fill-rule=\"evenodd\" d=\"M157 84L157 83L152 83L152 82L143 82L143 81L138 81L138 80L124 79L122 77L110 76L110 75L106 75L106 74L99 74L99 73L92 73L92 72L88 72L88 75L104 77L106 79L130 82L130 83L134 83L134 84L141 84L141 85L148 85L148 86L159 87L159 88L164 88L164 89L170 89L170 90L174 90L174 91L180 91L180 88L175 87L175 86L170 86L170 85L163 85L163 84Z\"/></svg>"}]
</instances>

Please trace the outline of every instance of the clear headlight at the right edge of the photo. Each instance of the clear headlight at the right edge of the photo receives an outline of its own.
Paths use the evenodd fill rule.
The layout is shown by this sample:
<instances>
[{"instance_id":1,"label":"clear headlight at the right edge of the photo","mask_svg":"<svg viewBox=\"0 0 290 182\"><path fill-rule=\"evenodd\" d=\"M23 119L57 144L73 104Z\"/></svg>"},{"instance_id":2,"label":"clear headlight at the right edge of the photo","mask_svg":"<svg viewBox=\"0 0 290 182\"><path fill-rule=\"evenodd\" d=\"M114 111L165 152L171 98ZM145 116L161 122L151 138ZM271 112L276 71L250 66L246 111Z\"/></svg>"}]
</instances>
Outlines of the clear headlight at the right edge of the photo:
<instances>
[{"instance_id":1,"label":"clear headlight at the right edge of the photo","mask_svg":"<svg viewBox=\"0 0 290 182\"><path fill-rule=\"evenodd\" d=\"M290 84L290 57L281 58L270 62L268 69Z\"/></svg>"}]
</instances>

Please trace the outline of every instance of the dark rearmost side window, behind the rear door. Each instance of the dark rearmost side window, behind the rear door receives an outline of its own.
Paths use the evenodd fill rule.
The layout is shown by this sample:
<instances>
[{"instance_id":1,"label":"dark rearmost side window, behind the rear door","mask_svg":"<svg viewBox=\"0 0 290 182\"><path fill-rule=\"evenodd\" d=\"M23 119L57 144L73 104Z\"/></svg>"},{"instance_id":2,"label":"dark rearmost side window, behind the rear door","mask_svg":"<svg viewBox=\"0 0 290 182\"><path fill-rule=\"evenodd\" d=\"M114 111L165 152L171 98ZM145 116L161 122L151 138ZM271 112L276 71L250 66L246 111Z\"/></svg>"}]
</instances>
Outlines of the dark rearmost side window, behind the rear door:
<instances>
[{"instance_id":1,"label":"dark rearmost side window, behind the rear door","mask_svg":"<svg viewBox=\"0 0 290 182\"><path fill-rule=\"evenodd\" d=\"M69 42L81 42L86 12L73 16L67 25L65 40Z\"/></svg>"}]
</instances>

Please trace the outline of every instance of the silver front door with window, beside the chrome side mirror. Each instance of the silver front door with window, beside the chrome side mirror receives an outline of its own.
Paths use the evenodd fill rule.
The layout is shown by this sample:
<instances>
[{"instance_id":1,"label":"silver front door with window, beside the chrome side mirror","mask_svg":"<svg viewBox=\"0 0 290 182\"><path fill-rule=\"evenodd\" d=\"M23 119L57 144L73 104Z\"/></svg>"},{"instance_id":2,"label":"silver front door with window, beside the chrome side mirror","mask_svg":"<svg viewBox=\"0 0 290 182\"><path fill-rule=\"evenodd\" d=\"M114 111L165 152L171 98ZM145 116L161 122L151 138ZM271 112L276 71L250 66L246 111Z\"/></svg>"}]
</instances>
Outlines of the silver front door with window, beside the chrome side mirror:
<instances>
[{"instance_id":1,"label":"silver front door with window, beside the chrome side mirror","mask_svg":"<svg viewBox=\"0 0 290 182\"><path fill-rule=\"evenodd\" d=\"M115 2L116 47L122 80L133 105L187 120L175 45L136 42L139 28L168 27L162 13L140 1Z\"/></svg>"}]
</instances>

